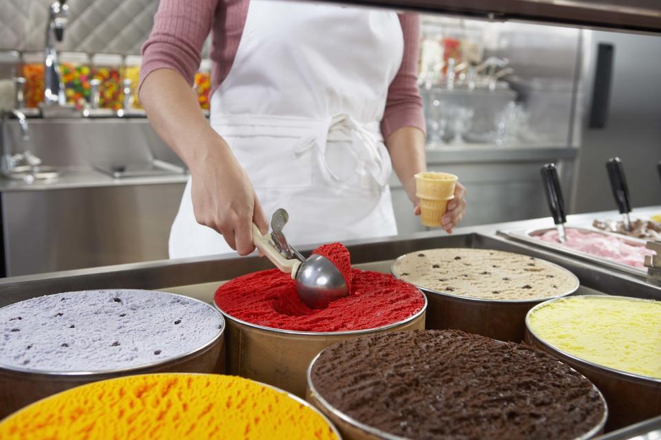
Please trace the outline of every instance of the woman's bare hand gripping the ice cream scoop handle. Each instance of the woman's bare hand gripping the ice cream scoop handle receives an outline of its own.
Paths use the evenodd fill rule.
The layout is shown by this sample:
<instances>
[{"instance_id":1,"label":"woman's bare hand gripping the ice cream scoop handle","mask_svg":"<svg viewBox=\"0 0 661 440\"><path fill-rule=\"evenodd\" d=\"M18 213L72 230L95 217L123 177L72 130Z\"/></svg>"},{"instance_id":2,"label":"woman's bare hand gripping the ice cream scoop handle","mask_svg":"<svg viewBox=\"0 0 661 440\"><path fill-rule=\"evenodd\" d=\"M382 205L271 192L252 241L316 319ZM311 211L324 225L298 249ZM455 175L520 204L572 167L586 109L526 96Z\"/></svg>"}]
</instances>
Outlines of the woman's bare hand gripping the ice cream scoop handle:
<instances>
[{"instance_id":1,"label":"woman's bare hand gripping the ice cream scoop handle","mask_svg":"<svg viewBox=\"0 0 661 440\"><path fill-rule=\"evenodd\" d=\"M248 175L224 140L217 139L221 145L205 148L191 168L193 212L200 225L222 234L239 255L248 255L255 250L253 221L262 233L269 226Z\"/></svg>"}]
</instances>

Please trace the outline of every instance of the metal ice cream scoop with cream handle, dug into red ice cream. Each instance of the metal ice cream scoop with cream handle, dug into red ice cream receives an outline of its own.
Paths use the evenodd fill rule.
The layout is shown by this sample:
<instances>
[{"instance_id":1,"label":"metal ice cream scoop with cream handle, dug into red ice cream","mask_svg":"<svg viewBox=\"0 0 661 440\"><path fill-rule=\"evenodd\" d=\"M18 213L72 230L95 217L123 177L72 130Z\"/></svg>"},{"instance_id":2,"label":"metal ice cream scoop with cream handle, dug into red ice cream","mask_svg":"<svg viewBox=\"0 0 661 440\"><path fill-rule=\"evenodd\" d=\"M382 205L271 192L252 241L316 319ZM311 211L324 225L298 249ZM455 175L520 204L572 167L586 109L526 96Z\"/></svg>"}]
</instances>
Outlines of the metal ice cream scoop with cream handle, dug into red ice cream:
<instances>
[{"instance_id":1,"label":"metal ice cream scoop with cream handle, dug into red ice cream","mask_svg":"<svg viewBox=\"0 0 661 440\"><path fill-rule=\"evenodd\" d=\"M282 231L280 236L284 239ZM271 260L271 262L296 281L296 290L301 300L312 309L323 309L331 301L349 294L349 288L342 273L330 260L319 254L312 254L307 259L287 259L275 248L271 235L263 235L253 223L253 244ZM286 242L285 242L286 243ZM291 246L288 246L291 248ZM292 249L293 250L293 249ZM293 250L293 254L300 256Z\"/></svg>"}]
</instances>

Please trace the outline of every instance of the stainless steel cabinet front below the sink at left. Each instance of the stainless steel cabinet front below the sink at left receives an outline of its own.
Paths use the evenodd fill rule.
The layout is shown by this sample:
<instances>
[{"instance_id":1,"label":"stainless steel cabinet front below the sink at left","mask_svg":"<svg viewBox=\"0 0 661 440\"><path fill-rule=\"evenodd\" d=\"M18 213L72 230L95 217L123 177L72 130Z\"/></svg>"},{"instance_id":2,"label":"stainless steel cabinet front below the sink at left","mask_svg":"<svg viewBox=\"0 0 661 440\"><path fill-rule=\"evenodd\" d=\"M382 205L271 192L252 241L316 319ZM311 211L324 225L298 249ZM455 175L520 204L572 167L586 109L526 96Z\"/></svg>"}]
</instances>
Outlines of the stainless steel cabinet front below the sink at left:
<instances>
[{"instance_id":1,"label":"stainless steel cabinet front below the sink at left","mask_svg":"<svg viewBox=\"0 0 661 440\"><path fill-rule=\"evenodd\" d=\"M167 259L183 184L3 192L8 276Z\"/></svg>"}]
</instances>

